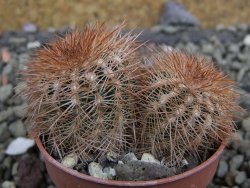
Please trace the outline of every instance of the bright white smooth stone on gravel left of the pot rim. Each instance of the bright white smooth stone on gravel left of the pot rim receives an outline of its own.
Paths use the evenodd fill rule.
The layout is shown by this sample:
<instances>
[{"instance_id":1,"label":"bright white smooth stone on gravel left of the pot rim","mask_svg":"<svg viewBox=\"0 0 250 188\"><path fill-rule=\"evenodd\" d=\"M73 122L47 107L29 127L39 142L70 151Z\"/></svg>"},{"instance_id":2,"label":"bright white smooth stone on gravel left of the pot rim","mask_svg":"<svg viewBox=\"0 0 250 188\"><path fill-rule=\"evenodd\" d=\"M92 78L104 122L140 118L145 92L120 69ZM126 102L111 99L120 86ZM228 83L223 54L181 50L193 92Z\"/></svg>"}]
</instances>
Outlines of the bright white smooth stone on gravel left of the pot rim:
<instances>
[{"instance_id":1,"label":"bright white smooth stone on gravel left of the pot rim","mask_svg":"<svg viewBox=\"0 0 250 188\"><path fill-rule=\"evenodd\" d=\"M35 145L35 141L28 138L18 137L7 147L5 153L8 155L20 155Z\"/></svg>"}]
</instances>

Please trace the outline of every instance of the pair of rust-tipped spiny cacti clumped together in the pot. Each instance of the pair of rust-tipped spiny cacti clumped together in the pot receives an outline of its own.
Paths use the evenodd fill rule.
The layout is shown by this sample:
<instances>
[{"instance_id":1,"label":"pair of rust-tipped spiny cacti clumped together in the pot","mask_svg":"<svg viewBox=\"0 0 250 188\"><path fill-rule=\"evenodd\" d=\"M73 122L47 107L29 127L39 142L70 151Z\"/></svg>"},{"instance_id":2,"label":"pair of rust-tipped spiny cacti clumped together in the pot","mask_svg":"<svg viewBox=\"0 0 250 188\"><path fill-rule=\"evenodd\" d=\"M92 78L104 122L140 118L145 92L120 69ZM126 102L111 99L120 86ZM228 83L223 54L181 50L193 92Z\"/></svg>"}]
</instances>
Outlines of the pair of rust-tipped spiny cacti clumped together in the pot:
<instances>
[{"instance_id":1,"label":"pair of rust-tipped spiny cacti clumped together in the pot","mask_svg":"<svg viewBox=\"0 0 250 188\"><path fill-rule=\"evenodd\" d=\"M233 131L233 81L179 51L138 57L137 36L89 26L37 51L23 78L32 132L61 159L151 152L170 165Z\"/></svg>"}]
</instances>

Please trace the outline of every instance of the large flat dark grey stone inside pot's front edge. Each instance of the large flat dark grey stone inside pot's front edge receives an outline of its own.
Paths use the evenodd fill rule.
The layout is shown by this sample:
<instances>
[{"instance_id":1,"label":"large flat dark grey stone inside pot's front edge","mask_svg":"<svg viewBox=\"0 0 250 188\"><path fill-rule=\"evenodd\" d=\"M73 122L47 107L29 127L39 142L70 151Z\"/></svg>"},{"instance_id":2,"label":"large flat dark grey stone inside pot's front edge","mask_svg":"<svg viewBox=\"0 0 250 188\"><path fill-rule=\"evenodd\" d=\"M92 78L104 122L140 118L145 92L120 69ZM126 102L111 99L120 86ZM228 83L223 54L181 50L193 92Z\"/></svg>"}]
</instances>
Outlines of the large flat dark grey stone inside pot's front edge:
<instances>
[{"instance_id":1,"label":"large flat dark grey stone inside pot's front edge","mask_svg":"<svg viewBox=\"0 0 250 188\"><path fill-rule=\"evenodd\" d=\"M115 166L118 180L139 181L160 179L174 175L171 169L157 163L129 161L127 164Z\"/></svg>"}]
</instances>

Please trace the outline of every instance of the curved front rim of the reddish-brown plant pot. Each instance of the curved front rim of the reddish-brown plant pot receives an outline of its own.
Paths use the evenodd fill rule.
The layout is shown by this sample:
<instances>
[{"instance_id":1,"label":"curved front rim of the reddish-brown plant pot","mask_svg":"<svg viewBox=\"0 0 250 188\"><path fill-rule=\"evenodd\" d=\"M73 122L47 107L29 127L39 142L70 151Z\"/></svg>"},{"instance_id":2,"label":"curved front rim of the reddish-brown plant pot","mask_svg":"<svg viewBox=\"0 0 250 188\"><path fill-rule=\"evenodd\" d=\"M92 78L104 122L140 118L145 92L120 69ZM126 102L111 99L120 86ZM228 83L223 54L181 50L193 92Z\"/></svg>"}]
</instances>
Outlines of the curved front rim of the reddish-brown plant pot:
<instances>
[{"instance_id":1,"label":"curved front rim of the reddish-brown plant pot","mask_svg":"<svg viewBox=\"0 0 250 188\"><path fill-rule=\"evenodd\" d=\"M157 180L149 180L149 181L118 181L118 180L106 180L106 179L100 179L100 178L96 178L96 177L92 177L86 174L82 174L77 172L76 170L64 167L63 165L61 165L61 163L59 163L58 161L56 161L51 155L49 155L49 153L45 150L40 138L37 138L36 140L36 144L39 148L39 150L41 151L41 153L43 154L44 158L52 163L54 166L56 166L57 168L73 175L76 176L80 179L84 179L87 181L91 181L91 182L96 182L99 184L105 184L105 185L114 185L114 186L152 186L152 185L159 185L159 184L164 184L164 183L171 183L183 178L186 178L192 174L196 174L199 171L201 171L202 169L206 168L207 166L209 166L211 163L213 163L216 159L218 159L218 157L221 156L225 146L226 146L226 141L223 141L220 145L220 147L216 150L216 152L210 157L208 158L206 161L204 161L203 163L201 163L200 165L186 171L183 172L181 174L177 174L174 176L170 176L167 178L162 178L162 179L157 179Z\"/></svg>"}]
</instances>

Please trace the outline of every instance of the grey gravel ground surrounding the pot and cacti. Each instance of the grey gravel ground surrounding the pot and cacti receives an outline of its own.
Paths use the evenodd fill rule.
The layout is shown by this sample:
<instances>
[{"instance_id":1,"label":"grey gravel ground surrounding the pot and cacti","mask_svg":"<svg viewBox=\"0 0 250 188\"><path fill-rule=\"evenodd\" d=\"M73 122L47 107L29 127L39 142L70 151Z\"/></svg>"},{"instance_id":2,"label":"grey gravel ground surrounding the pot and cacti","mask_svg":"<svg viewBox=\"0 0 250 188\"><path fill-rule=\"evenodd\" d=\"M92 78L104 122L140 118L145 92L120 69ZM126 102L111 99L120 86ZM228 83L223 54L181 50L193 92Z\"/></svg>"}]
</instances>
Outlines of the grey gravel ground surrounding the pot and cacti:
<instances>
[{"instance_id":1,"label":"grey gravel ground surrounding the pot and cacti","mask_svg":"<svg viewBox=\"0 0 250 188\"><path fill-rule=\"evenodd\" d=\"M8 156L5 150L17 137L25 137L23 120L26 104L14 97L22 90L18 71L24 68L33 51L46 43L55 31L17 31L0 33L0 187L53 188L36 147L18 156ZM203 54L237 81L243 94L240 104L247 109L242 121L236 122L237 139L225 150L209 188L250 187L250 26L202 30L199 28L156 26L143 32L140 40L166 44Z\"/></svg>"}]
</instances>

